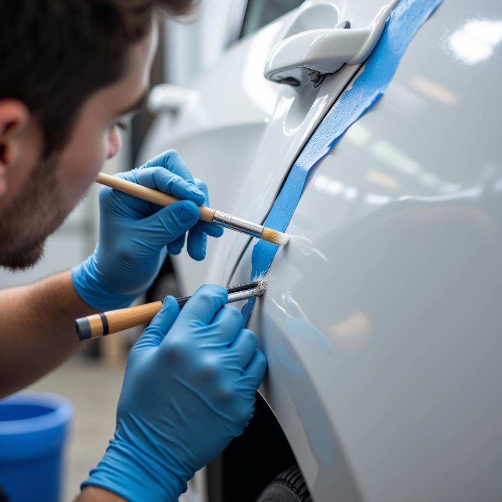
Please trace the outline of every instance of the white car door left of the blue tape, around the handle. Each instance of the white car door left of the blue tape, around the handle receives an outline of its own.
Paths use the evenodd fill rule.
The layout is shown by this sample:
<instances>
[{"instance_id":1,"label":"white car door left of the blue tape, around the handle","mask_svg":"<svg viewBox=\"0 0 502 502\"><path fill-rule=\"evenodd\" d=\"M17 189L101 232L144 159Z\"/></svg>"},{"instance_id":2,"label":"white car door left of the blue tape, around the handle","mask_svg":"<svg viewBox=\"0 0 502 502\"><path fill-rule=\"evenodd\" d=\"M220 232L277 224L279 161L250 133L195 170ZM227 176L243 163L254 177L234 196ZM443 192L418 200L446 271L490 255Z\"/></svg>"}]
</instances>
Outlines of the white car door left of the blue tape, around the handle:
<instances>
[{"instance_id":1,"label":"white car door left of the blue tape, around the handle","mask_svg":"<svg viewBox=\"0 0 502 502\"><path fill-rule=\"evenodd\" d=\"M213 208L250 221L263 221L301 148L360 67L343 65L319 82L299 86L291 85L295 78L277 83L264 77L274 48L297 34L332 30L345 20L349 30L357 30L376 16L383 27L396 0L307 0L253 32L263 20L298 3L250 0L243 23L243 32L250 33L194 79L190 90L182 90L180 97L173 88L166 96L154 89L159 102L178 99L181 105L174 118L159 112L141 159L168 148L178 150L194 175L208 184ZM307 48L300 45L286 56L293 65L301 63ZM182 292L193 292L201 282L226 283L248 240L227 231L210 239L203 262L194 263L185 254L176 257Z\"/></svg>"}]
</instances>

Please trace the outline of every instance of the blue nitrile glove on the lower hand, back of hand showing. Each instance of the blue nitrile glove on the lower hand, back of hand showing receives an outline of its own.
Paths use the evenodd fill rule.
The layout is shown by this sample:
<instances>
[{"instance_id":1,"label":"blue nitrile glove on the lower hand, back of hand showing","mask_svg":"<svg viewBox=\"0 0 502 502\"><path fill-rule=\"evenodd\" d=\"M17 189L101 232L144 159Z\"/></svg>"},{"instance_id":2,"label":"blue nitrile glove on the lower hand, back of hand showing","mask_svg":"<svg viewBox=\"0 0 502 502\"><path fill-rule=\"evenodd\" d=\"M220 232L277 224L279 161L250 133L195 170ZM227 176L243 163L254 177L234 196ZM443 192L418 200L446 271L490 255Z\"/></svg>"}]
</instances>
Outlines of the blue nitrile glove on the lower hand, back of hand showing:
<instances>
[{"instance_id":1,"label":"blue nitrile glove on the lower hand, back of hand showing","mask_svg":"<svg viewBox=\"0 0 502 502\"><path fill-rule=\"evenodd\" d=\"M133 502L178 500L253 416L266 359L227 292L167 297L129 354L113 439L82 483Z\"/></svg>"}]
</instances>

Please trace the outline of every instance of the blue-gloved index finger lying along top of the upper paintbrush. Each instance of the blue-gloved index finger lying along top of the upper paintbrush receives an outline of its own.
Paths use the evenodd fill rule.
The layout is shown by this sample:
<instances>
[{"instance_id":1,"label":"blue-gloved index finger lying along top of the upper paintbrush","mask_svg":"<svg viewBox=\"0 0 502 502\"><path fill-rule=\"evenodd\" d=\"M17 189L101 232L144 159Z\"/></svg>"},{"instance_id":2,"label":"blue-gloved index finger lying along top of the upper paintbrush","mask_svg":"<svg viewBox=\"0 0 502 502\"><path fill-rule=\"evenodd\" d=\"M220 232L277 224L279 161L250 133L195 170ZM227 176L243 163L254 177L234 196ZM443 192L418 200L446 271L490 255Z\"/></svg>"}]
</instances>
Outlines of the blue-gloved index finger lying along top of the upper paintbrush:
<instances>
[{"instance_id":1,"label":"blue-gloved index finger lying along top of the upper paintbrush","mask_svg":"<svg viewBox=\"0 0 502 502\"><path fill-rule=\"evenodd\" d=\"M197 205L204 204L205 194L197 188L190 175L190 181L165 167L148 167L136 170L136 182L148 188L161 190L178 199L191 200Z\"/></svg>"}]
</instances>

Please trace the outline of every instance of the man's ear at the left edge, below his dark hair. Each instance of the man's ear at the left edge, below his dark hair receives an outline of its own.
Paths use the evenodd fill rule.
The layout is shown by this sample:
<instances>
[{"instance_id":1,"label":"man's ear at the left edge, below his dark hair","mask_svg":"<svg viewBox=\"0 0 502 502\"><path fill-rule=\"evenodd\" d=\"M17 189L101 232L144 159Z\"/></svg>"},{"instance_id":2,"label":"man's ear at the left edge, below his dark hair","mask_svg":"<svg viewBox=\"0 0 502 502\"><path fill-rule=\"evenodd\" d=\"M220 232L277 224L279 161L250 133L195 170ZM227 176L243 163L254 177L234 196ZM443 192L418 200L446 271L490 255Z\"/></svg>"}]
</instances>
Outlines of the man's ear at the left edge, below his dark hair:
<instances>
[{"instance_id":1,"label":"man's ear at the left edge, below his dark hair","mask_svg":"<svg viewBox=\"0 0 502 502\"><path fill-rule=\"evenodd\" d=\"M0 99L0 196L6 191L8 169L16 163L20 134L30 121L28 107L17 99Z\"/></svg>"}]
</instances>

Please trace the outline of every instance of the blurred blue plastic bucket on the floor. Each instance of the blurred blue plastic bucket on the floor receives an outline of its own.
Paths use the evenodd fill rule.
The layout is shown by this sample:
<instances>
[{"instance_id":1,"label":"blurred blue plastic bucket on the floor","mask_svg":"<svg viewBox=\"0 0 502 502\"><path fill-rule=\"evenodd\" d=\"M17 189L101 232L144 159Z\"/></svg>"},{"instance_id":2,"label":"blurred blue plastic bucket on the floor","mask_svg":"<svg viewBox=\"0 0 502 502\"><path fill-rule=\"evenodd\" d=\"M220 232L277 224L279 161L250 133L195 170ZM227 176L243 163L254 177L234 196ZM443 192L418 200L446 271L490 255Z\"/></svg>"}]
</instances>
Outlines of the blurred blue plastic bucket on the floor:
<instances>
[{"instance_id":1,"label":"blurred blue plastic bucket on the floor","mask_svg":"<svg viewBox=\"0 0 502 502\"><path fill-rule=\"evenodd\" d=\"M9 502L58 502L71 403L45 392L0 401L0 488Z\"/></svg>"}]
</instances>

